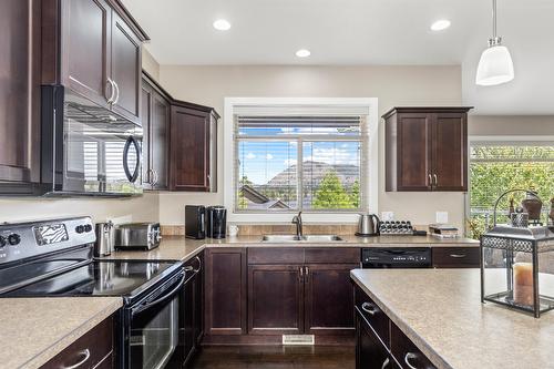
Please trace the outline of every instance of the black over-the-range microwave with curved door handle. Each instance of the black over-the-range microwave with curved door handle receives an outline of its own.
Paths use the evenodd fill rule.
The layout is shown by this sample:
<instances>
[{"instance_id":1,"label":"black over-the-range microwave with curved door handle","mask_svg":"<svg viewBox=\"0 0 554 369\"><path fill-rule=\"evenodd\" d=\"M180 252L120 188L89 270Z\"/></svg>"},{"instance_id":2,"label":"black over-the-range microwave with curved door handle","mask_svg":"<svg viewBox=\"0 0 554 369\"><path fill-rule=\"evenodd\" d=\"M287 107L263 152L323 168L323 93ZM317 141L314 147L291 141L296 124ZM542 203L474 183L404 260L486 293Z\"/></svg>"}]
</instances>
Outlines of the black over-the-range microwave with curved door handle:
<instances>
[{"instance_id":1,"label":"black over-the-range microwave with curved door handle","mask_svg":"<svg viewBox=\"0 0 554 369\"><path fill-rule=\"evenodd\" d=\"M142 127L61 85L42 88L41 193L142 193Z\"/></svg>"}]
</instances>

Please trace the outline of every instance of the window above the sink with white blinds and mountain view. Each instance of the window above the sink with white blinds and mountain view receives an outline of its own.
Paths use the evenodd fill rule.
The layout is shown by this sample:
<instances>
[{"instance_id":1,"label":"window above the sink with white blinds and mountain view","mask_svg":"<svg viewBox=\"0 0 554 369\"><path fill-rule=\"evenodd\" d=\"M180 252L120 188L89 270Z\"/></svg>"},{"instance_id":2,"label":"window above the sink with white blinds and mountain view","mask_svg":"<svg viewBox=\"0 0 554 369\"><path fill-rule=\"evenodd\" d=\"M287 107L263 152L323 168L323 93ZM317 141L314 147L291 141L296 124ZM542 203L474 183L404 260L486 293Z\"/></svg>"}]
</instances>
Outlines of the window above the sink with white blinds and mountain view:
<instances>
[{"instance_id":1,"label":"window above the sink with white blinds and mountain view","mask_svg":"<svg viewBox=\"0 0 554 369\"><path fill-rule=\"evenodd\" d=\"M321 105L238 109L229 132L233 181L226 197L233 197L227 206L239 217L276 215L264 221L288 219L278 214L300 211L339 217L367 211L377 187L370 173L377 170L369 160L367 109L362 112Z\"/></svg>"}]
</instances>

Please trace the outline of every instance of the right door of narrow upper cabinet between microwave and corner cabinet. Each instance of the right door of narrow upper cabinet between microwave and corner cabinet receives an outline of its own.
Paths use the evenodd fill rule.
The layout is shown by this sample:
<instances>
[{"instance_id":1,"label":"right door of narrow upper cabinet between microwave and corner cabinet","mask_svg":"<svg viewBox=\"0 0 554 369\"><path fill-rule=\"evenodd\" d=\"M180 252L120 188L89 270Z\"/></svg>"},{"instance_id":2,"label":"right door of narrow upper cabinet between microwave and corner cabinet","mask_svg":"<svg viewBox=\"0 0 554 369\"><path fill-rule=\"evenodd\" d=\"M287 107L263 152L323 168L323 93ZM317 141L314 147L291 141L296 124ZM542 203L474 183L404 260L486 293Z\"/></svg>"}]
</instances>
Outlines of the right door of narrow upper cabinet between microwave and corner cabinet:
<instances>
[{"instance_id":1,"label":"right door of narrow upper cabinet between microwave and corner cabinet","mask_svg":"<svg viewBox=\"0 0 554 369\"><path fill-rule=\"evenodd\" d=\"M144 102L143 102L144 104ZM170 134L171 107L167 100L154 92L152 95L152 122L150 130L150 167L153 178L154 189L167 189L167 135Z\"/></svg>"}]
</instances>

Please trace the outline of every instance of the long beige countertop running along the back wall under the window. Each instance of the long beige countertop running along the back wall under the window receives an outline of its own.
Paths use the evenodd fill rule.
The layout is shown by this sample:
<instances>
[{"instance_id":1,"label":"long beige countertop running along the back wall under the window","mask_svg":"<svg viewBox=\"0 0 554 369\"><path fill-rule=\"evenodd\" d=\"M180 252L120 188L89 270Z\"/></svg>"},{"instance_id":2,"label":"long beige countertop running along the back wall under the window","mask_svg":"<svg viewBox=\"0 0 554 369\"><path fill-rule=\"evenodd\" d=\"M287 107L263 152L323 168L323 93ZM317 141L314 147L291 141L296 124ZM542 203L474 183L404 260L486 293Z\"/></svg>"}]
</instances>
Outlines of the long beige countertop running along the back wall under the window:
<instances>
[{"instance_id":1,"label":"long beige countertop running along the back wall under the window","mask_svg":"<svg viewBox=\"0 0 554 369\"><path fill-rule=\"evenodd\" d=\"M342 242L334 243L267 243L261 236L237 236L224 239L189 239L184 236L164 236L160 247L148 252L117 250L110 259L153 259L186 262L206 247L479 247L479 242L470 238L440 239L432 236L340 236Z\"/></svg>"}]
</instances>

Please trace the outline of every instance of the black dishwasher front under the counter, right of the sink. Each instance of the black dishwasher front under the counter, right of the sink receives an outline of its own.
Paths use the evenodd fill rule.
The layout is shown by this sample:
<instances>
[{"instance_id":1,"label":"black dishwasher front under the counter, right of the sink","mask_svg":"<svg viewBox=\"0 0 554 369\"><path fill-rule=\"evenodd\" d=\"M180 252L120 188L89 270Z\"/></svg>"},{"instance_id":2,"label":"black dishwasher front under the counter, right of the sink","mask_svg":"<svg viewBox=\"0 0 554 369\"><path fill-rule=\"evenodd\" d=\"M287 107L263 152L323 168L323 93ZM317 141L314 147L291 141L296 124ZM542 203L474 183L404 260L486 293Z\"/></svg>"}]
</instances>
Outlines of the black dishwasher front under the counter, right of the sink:
<instances>
[{"instance_id":1,"label":"black dishwasher front under the counter, right of the sink","mask_svg":"<svg viewBox=\"0 0 554 369\"><path fill-rule=\"evenodd\" d=\"M430 268L430 247L371 247L361 249L361 267L379 268Z\"/></svg>"}]
</instances>

